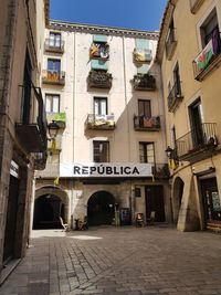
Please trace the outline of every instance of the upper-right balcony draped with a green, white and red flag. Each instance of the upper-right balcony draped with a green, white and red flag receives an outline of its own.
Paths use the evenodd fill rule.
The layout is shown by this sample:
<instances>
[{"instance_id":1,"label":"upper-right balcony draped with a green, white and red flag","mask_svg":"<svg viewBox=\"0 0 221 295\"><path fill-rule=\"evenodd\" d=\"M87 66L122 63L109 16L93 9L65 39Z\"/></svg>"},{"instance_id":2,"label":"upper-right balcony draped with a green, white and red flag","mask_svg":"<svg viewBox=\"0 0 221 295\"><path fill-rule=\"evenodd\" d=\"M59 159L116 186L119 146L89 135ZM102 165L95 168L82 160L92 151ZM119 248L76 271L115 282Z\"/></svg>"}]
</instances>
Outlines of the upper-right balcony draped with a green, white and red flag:
<instances>
[{"instance_id":1,"label":"upper-right balcony draped with a green, white and red flag","mask_svg":"<svg viewBox=\"0 0 221 295\"><path fill-rule=\"evenodd\" d=\"M203 81L221 63L221 39L220 32L214 30L212 38L204 49L192 62L194 78Z\"/></svg>"}]
</instances>

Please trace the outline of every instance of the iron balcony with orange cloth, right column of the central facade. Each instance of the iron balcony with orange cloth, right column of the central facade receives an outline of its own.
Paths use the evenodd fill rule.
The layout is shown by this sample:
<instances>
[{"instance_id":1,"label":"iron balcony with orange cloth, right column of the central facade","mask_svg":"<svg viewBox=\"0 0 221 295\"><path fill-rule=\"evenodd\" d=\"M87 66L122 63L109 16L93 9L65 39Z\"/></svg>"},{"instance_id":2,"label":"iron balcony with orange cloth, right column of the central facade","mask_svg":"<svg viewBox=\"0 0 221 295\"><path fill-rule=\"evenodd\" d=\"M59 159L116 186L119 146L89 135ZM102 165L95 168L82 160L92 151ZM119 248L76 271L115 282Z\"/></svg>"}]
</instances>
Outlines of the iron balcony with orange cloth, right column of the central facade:
<instances>
[{"instance_id":1,"label":"iron balcony with orange cloth, right column of the central facade","mask_svg":"<svg viewBox=\"0 0 221 295\"><path fill-rule=\"evenodd\" d=\"M134 116L134 128L137 131L159 131L160 117Z\"/></svg>"}]
</instances>

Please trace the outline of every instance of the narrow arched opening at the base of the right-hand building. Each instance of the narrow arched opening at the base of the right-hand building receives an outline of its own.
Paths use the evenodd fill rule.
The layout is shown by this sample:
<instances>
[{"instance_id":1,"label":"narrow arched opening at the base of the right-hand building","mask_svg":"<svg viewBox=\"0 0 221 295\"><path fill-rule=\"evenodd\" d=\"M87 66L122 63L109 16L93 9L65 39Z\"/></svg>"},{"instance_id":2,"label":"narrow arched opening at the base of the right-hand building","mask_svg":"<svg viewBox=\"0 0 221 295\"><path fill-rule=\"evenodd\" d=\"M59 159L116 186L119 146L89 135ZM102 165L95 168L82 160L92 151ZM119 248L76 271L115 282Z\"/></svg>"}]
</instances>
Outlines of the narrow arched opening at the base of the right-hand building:
<instances>
[{"instance_id":1,"label":"narrow arched opening at the base of the right-hand building","mask_svg":"<svg viewBox=\"0 0 221 295\"><path fill-rule=\"evenodd\" d=\"M177 223L179 218L179 211L182 201L185 182L180 177L177 177L173 182L172 190L172 210L173 210L173 221Z\"/></svg>"}]
</instances>

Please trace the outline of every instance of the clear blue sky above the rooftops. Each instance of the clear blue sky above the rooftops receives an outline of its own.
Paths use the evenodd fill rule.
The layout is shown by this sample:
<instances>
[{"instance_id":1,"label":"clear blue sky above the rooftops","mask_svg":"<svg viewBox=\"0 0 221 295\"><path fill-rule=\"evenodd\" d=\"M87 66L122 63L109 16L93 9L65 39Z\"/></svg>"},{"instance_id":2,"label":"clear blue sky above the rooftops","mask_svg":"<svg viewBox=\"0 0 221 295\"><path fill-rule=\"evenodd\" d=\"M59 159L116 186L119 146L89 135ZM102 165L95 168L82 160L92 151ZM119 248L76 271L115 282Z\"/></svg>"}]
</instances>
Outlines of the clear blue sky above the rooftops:
<instances>
[{"instance_id":1,"label":"clear blue sky above the rooftops","mask_svg":"<svg viewBox=\"0 0 221 295\"><path fill-rule=\"evenodd\" d=\"M159 30L167 0L51 0L52 20Z\"/></svg>"}]
</instances>

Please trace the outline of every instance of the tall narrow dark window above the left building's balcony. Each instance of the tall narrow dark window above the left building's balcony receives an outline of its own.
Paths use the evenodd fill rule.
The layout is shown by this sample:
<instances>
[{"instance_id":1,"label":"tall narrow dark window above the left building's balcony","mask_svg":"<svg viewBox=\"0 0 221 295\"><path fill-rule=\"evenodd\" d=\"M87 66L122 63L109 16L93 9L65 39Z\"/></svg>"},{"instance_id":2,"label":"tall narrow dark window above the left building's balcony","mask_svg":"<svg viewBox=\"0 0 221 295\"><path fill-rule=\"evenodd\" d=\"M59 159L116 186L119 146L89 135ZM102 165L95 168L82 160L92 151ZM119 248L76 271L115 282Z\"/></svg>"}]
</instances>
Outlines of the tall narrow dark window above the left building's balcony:
<instances>
[{"instance_id":1,"label":"tall narrow dark window above the left building's balcony","mask_svg":"<svg viewBox=\"0 0 221 295\"><path fill-rule=\"evenodd\" d=\"M30 122L30 110L31 110L31 61L29 53L27 51L25 63L24 63L24 74L23 74L23 87L22 87L22 99L21 99L21 118L23 124L29 124Z\"/></svg>"}]
</instances>

